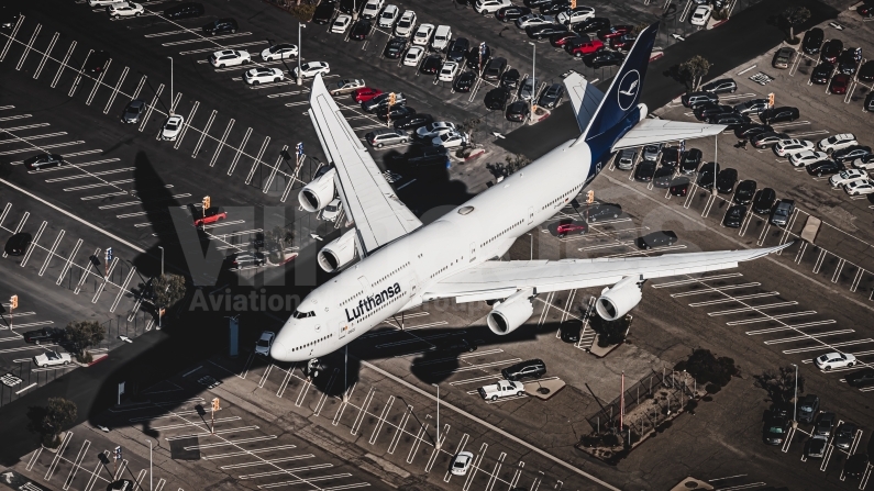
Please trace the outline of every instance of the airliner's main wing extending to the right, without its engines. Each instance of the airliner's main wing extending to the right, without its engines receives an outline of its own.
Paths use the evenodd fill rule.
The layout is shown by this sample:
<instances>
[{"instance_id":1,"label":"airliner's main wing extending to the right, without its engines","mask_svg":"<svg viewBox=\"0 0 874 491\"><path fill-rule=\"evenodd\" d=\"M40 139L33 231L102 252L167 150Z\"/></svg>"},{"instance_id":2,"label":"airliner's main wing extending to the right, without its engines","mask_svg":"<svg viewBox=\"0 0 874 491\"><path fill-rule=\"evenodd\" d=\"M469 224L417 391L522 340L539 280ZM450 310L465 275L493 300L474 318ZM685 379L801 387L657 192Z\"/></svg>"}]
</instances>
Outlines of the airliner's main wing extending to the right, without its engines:
<instances>
[{"instance_id":1,"label":"airliner's main wing extending to the right, without its engines","mask_svg":"<svg viewBox=\"0 0 874 491\"><path fill-rule=\"evenodd\" d=\"M525 288L543 293L611 286L627 277L646 280L715 271L735 268L738 263L757 259L789 245L656 257L486 261L429 287L422 300L454 297L458 303L475 302L504 299Z\"/></svg>"}]
</instances>

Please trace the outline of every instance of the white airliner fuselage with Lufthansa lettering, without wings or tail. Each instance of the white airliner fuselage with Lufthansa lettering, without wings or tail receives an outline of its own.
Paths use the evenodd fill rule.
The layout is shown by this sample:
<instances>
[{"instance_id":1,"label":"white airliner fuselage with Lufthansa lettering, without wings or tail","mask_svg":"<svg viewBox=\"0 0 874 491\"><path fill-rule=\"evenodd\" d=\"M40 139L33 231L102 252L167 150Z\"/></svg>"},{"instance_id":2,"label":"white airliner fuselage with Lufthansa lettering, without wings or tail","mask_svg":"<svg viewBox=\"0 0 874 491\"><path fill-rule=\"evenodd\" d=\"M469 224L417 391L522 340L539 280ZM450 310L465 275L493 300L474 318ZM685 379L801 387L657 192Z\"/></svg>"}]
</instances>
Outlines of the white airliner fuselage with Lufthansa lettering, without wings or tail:
<instances>
[{"instance_id":1,"label":"white airliner fuselage with Lufthansa lettering, without wings or tail","mask_svg":"<svg viewBox=\"0 0 874 491\"><path fill-rule=\"evenodd\" d=\"M573 143L313 290L283 326L270 355L306 361L333 353L391 315L420 305L431 284L501 256L585 187L591 154L585 143ZM473 211L460 212L467 207Z\"/></svg>"}]
</instances>

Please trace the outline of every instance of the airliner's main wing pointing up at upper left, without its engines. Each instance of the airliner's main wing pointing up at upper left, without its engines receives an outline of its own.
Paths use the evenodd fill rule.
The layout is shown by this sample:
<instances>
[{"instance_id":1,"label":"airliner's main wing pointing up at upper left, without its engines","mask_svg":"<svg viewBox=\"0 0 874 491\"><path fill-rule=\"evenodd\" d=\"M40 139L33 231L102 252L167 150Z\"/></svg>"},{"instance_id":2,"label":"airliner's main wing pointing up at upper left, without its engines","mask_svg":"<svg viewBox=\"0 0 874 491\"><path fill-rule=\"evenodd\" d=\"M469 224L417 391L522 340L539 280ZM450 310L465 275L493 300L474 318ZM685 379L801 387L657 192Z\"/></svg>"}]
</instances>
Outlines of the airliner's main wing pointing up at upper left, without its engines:
<instances>
[{"instance_id":1,"label":"airliner's main wing pointing up at upper left, without its engines","mask_svg":"<svg viewBox=\"0 0 874 491\"><path fill-rule=\"evenodd\" d=\"M383 177L321 75L312 81L310 119L324 155L336 168L336 190L343 210L355 222L359 257L422 226Z\"/></svg>"}]
</instances>

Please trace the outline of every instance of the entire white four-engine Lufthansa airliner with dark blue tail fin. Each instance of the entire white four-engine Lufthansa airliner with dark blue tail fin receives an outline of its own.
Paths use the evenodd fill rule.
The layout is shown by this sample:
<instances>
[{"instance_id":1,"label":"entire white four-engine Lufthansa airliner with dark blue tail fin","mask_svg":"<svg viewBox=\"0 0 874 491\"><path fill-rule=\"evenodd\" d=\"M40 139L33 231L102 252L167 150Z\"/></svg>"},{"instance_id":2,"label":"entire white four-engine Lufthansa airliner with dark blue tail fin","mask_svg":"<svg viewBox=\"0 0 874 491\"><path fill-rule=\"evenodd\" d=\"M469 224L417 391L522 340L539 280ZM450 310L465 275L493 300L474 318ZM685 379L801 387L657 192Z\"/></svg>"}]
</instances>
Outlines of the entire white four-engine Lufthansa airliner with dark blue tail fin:
<instances>
[{"instance_id":1,"label":"entire white four-engine Lufthansa airliner with dark blue tail fin","mask_svg":"<svg viewBox=\"0 0 874 491\"><path fill-rule=\"evenodd\" d=\"M487 323L502 335L532 315L534 295L610 286L597 299L596 309L602 317L615 320L640 302L643 280L733 268L785 247L634 258L493 260L574 199L613 152L716 135L724 129L645 119L646 107L639 100L656 31L653 24L638 36L606 93L577 74L565 78L579 137L424 226L395 196L317 76L309 113L331 164L300 191L299 201L312 212L339 196L354 227L318 253L319 266L339 274L303 299L276 337L270 356L280 361L324 356L386 319L435 299L496 300Z\"/></svg>"}]
</instances>

